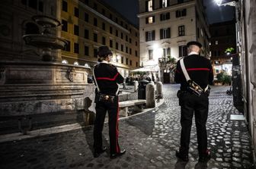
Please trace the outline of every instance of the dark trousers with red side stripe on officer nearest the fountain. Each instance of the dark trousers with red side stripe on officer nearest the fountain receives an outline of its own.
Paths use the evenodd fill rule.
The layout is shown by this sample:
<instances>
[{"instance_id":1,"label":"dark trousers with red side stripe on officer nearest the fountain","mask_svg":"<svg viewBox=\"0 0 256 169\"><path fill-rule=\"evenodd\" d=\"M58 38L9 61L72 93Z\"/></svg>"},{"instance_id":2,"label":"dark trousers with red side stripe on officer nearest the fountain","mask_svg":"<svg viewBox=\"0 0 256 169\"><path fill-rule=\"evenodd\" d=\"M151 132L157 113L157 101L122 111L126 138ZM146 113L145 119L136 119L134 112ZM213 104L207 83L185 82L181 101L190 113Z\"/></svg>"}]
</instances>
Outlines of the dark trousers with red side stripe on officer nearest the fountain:
<instances>
[{"instance_id":1,"label":"dark trousers with red side stripe on officer nearest the fountain","mask_svg":"<svg viewBox=\"0 0 256 169\"><path fill-rule=\"evenodd\" d=\"M104 127L104 119L108 112L108 126L110 137L110 154L120 152L118 144L118 97L114 99L114 103L96 103L96 118L94 121L94 150L98 151L102 148L102 130Z\"/></svg>"}]
</instances>

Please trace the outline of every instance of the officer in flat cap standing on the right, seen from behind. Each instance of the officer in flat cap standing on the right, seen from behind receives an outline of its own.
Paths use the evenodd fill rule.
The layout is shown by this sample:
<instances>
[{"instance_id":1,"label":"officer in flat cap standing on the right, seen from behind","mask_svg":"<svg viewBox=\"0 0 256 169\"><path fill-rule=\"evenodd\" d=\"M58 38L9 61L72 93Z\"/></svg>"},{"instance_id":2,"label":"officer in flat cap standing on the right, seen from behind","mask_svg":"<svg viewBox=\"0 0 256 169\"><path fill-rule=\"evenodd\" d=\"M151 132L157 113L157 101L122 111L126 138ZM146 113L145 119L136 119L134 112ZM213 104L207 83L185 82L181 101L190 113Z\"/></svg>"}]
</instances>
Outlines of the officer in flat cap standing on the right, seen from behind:
<instances>
[{"instance_id":1,"label":"officer in flat cap standing on the right, seen from behind","mask_svg":"<svg viewBox=\"0 0 256 169\"><path fill-rule=\"evenodd\" d=\"M188 149L190 143L190 130L192 119L195 115L197 127L197 143L200 162L205 162L210 159L210 151L207 149L207 133L206 120L208 117L209 107L209 84L213 83L213 68L210 60L200 56L200 42L187 43L187 57L184 58L184 66L190 80L197 83L203 93L198 96L189 89L189 83L181 69L181 60L177 63L174 80L176 83L181 83L181 89L178 91L179 105L181 105L181 146L176 156L182 161L188 161Z\"/></svg>"}]
</instances>

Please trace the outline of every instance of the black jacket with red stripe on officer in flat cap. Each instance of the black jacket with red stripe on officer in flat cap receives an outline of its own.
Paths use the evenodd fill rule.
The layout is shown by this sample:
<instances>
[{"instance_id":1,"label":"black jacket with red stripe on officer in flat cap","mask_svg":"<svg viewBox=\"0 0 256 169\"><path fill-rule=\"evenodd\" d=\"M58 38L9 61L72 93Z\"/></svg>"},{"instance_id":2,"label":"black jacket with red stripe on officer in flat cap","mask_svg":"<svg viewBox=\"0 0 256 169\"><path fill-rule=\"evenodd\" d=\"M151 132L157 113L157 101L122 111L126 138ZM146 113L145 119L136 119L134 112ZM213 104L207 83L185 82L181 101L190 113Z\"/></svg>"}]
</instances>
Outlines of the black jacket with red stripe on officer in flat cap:
<instances>
[{"instance_id":1,"label":"black jacket with red stripe on officer in flat cap","mask_svg":"<svg viewBox=\"0 0 256 169\"><path fill-rule=\"evenodd\" d=\"M213 67L209 59L200 55L188 55L184 58L184 65L190 79L203 89L205 89L208 84L213 83ZM180 61L177 63L174 80L176 83L181 83L181 90L187 89L188 84L181 70Z\"/></svg>"}]
</instances>

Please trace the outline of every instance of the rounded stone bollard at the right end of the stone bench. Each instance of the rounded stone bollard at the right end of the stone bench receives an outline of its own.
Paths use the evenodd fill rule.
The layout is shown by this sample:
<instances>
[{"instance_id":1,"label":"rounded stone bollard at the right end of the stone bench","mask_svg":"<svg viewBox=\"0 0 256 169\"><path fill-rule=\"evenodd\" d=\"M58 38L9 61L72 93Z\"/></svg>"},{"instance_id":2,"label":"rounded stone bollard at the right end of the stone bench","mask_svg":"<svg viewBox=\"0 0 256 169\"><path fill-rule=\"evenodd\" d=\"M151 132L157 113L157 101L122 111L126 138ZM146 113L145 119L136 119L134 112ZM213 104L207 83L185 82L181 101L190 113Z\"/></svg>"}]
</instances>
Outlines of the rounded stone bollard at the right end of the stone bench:
<instances>
[{"instance_id":1,"label":"rounded stone bollard at the right end of the stone bench","mask_svg":"<svg viewBox=\"0 0 256 169\"><path fill-rule=\"evenodd\" d=\"M155 108L155 85L152 83L146 86L146 108Z\"/></svg>"}]
</instances>

